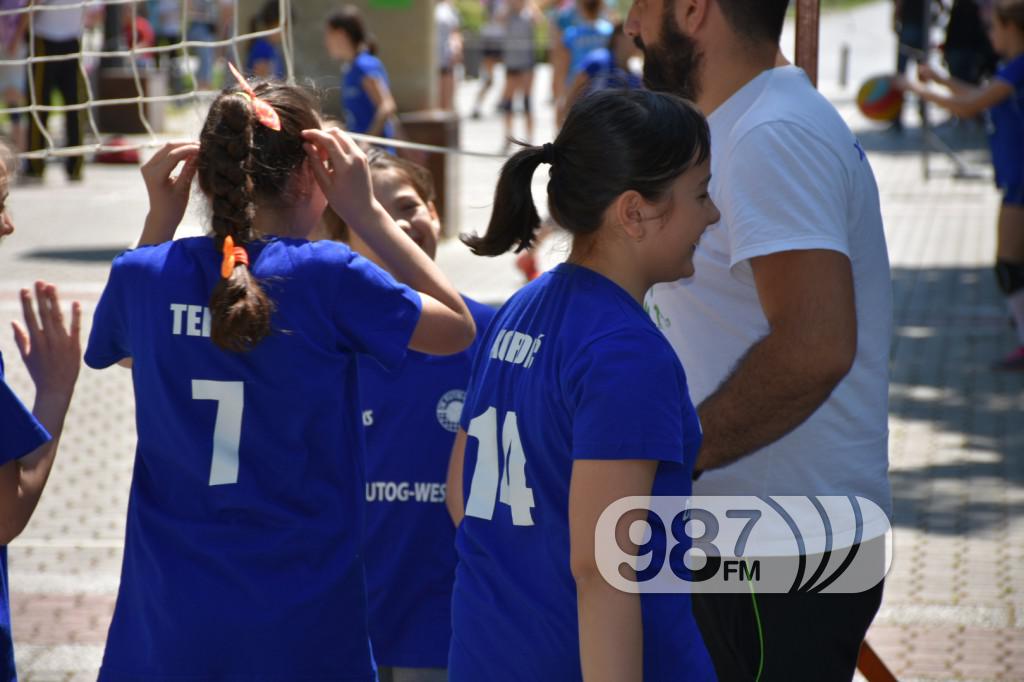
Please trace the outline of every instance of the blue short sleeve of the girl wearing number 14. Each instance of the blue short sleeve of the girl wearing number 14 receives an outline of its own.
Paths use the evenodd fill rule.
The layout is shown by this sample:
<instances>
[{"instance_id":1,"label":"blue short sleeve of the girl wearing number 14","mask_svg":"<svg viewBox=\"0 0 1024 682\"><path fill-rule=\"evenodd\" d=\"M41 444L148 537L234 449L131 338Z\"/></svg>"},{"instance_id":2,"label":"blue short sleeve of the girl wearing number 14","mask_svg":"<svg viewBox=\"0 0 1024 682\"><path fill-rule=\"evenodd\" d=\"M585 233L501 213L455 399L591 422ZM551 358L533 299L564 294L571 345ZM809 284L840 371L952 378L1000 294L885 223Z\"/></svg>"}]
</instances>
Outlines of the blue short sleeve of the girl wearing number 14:
<instances>
[{"instance_id":1,"label":"blue short sleeve of the girl wearing number 14","mask_svg":"<svg viewBox=\"0 0 1024 682\"><path fill-rule=\"evenodd\" d=\"M638 328L595 340L570 367L566 388L572 459L683 462L689 398L664 338Z\"/></svg>"}]
</instances>

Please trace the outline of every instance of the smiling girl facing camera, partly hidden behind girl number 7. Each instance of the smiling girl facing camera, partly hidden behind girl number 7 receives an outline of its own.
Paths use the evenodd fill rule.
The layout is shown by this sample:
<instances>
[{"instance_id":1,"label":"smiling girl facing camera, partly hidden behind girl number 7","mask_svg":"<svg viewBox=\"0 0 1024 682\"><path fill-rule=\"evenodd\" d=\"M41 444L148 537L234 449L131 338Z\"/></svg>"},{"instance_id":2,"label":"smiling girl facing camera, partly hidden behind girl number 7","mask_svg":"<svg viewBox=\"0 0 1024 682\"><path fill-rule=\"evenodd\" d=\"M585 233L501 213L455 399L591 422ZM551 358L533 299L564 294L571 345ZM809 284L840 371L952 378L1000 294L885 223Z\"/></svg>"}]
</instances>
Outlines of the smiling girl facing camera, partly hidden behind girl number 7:
<instances>
[{"instance_id":1,"label":"smiling girl facing camera, partly hidden behind girl number 7","mask_svg":"<svg viewBox=\"0 0 1024 682\"><path fill-rule=\"evenodd\" d=\"M433 259L441 223L430 171L379 150L371 150L369 160L374 197ZM379 260L358 236L350 240L354 251ZM495 309L463 300L477 330L485 330ZM414 351L393 369L371 358L359 361L367 593L381 682L446 679L456 554L444 474L475 350L474 343L443 357Z\"/></svg>"}]
</instances>

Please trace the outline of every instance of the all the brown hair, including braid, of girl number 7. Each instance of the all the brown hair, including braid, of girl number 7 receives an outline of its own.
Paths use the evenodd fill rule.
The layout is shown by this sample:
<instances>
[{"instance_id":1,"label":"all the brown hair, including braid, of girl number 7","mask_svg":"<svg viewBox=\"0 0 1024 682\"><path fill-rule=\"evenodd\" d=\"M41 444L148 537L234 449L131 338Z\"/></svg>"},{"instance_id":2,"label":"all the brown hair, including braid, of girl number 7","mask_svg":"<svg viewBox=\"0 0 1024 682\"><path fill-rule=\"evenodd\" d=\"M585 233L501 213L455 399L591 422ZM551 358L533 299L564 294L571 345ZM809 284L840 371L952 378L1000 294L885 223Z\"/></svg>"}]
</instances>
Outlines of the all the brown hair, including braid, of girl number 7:
<instances>
[{"instance_id":1,"label":"all the brown hair, including braid, of girl number 7","mask_svg":"<svg viewBox=\"0 0 1024 682\"><path fill-rule=\"evenodd\" d=\"M305 159L300 133L319 127L315 104L300 88L261 83L255 90L278 112L280 131L260 125L249 99L232 87L210 106L200 134L199 186L210 201L218 253L227 237L242 248L258 239L253 230L257 203L290 203L289 180ZM224 350L251 350L270 334L272 312L273 303L259 281L237 261L210 297L210 338Z\"/></svg>"}]
</instances>

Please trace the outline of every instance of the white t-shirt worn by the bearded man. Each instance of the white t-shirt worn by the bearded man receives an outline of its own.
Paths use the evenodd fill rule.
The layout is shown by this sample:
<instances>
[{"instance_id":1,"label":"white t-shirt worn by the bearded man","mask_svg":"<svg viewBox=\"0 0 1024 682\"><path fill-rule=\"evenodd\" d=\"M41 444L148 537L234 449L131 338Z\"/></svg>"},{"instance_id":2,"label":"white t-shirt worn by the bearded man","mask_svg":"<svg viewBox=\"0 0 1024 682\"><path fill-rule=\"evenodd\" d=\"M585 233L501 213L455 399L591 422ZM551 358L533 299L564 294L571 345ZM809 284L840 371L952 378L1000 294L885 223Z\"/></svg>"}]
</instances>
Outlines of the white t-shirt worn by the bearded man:
<instances>
[{"instance_id":1,"label":"white t-shirt worn by the bearded man","mask_svg":"<svg viewBox=\"0 0 1024 682\"><path fill-rule=\"evenodd\" d=\"M700 240L695 275L657 285L647 298L686 369L694 403L769 332L750 264L756 256L828 249L849 257L857 354L806 422L730 466L705 472L693 493L860 496L891 516L892 285L870 164L843 119L796 67L761 74L708 121L711 195L722 219ZM885 526L885 519L865 518L863 539L882 535Z\"/></svg>"}]
</instances>

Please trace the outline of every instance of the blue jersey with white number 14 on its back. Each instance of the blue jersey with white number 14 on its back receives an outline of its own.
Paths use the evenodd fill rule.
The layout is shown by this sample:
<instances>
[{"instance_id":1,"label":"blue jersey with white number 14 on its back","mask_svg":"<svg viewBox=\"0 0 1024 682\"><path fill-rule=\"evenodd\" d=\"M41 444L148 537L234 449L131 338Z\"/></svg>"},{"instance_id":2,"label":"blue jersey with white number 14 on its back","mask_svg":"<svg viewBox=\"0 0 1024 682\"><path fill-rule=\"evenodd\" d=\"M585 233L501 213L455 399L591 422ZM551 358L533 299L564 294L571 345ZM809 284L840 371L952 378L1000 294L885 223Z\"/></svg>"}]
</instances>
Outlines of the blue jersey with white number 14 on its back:
<instances>
[{"instance_id":1,"label":"blue jersey with white number 14 on its back","mask_svg":"<svg viewBox=\"0 0 1024 682\"><path fill-rule=\"evenodd\" d=\"M700 427L672 347L611 281L562 264L481 339L462 413L453 682L581 680L568 500L575 460L654 460L690 494ZM644 679L715 679L688 594L641 597Z\"/></svg>"}]
</instances>

